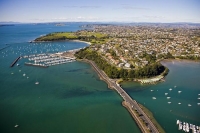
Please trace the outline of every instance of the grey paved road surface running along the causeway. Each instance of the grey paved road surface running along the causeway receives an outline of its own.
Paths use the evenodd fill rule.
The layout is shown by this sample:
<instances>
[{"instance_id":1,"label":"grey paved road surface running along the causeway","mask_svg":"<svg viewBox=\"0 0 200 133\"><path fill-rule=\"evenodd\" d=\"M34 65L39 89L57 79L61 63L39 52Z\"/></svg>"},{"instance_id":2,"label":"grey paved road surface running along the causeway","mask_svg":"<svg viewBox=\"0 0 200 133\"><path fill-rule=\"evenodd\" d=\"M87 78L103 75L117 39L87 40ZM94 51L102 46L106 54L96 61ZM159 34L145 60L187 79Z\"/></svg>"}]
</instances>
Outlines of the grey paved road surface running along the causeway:
<instances>
[{"instance_id":1,"label":"grey paved road surface running along the causeway","mask_svg":"<svg viewBox=\"0 0 200 133\"><path fill-rule=\"evenodd\" d=\"M121 87L119 84L116 83L115 80L110 79L103 71L101 71L96 64L93 61L89 61L92 64L92 66L94 67L94 69L98 72L98 74L101 76L101 78L103 78L110 87L114 88L119 94L120 96L124 99L124 101L128 102L132 108L136 109L141 118L147 123L147 127L153 132L153 133L159 133L159 131L157 130L157 128L155 127L155 125L151 122L151 120L149 119L149 117L144 113L144 111L140 108L140 106L138 105L138 103L133 100ZM142 126L142 125L141 125Z\"/></svg>"}]
</instances>

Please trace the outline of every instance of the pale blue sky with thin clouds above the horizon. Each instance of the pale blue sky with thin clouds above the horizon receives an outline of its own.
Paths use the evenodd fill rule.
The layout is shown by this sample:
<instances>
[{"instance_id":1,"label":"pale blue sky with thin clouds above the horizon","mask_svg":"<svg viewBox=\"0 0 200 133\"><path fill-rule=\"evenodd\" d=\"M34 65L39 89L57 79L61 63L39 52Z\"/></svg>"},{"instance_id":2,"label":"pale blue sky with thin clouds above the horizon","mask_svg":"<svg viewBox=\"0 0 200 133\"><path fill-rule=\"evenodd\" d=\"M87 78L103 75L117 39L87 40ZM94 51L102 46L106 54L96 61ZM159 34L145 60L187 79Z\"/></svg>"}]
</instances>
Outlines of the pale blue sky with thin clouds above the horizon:
<instances>
[{"instance_id":1,"label":"pale blue sky with thin clouds above the horizon","mask_svg":"<svg viewBox=\"0 0 200 133\"><path fill-rule=\"evenodd\" d=\"M0 21L200 23L200 0L0 0Z\"/></svg>"}]
</instances>

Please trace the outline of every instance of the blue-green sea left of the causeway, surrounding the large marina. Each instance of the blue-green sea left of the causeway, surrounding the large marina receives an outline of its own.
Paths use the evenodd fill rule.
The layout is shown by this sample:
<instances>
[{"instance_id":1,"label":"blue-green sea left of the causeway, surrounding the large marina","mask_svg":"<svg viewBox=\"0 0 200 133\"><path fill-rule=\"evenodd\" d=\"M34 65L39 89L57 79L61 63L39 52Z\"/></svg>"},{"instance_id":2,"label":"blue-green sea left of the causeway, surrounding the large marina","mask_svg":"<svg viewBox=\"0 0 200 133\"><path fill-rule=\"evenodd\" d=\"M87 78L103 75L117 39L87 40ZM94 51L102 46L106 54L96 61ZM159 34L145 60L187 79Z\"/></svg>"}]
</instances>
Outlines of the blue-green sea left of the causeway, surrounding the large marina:
<instances>
[{"instance_id":1,"label":"blue-green sea left of the causeway, surrounding the large marina","mask_svg":"<svg viewBox=\"0 0 200 133\"><path fill-rule=\"evenodd\" d=\"M122 99L99 80L89 64L49 68L10 64L20 55L55 53L87 46L79 42L28 43L55 31L76 31L78 23L0 27L0 132L139 133ZM26 74L26 76L23 76ZM35 82L39 81L39 85ZM14 128L15 125L18 128Z\"/></svg>"}]
</instances>

